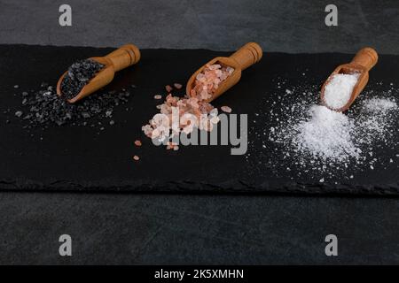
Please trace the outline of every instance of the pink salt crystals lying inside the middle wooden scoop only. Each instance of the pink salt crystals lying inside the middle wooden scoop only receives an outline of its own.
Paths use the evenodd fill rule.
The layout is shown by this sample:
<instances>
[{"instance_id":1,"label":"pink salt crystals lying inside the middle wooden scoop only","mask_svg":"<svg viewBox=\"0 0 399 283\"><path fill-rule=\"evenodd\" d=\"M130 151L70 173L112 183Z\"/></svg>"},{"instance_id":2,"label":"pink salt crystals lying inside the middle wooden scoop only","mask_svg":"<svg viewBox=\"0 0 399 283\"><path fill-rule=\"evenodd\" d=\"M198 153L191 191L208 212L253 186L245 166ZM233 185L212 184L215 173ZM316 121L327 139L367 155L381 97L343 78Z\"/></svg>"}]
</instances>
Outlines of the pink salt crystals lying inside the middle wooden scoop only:
<instances>
[{"instance_id":1,"label":"pink salt crystals lying inside the middle wooden scoop only","mask_svg":"<svg viewBox=\"0 0 399 283\"><path fill-rule=\"evenodd\" d=\"M226 80L233 72L234 69L231 66L220 64L206 65L195 78L195 85L190 95L197 97L199 100L211 98L221 82Z\"/></svg>"}]
</instances>

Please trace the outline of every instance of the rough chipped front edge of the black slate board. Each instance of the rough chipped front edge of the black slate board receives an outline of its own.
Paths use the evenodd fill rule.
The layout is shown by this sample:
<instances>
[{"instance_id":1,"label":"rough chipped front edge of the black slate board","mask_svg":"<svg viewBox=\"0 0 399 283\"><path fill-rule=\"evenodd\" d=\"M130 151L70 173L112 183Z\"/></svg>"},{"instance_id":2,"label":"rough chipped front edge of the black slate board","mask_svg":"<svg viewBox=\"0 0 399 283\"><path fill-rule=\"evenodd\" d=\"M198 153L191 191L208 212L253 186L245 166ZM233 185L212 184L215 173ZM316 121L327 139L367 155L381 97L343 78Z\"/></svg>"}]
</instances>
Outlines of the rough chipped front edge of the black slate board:
<instances>
[{"instance_id":1,"label":"rough chipped front edge of the black slate board","mask_svg":"<svg viewBox=\"0 0 399 283\"><path fill-rule=\"evenodd\" d=\"M215 185L207 182L168 181L137 182L137 184L100 185L57 180L40 183L33 180L0 180L0 190L19 192L125 192L125 193L187 193L187 194L278 194L278 195L394 195L399 196L399 183L385 185L332 185L329 183L288 183L273 186L267 183L254 187L242 180L229 180Z\"/></svg>"}]
</instances>

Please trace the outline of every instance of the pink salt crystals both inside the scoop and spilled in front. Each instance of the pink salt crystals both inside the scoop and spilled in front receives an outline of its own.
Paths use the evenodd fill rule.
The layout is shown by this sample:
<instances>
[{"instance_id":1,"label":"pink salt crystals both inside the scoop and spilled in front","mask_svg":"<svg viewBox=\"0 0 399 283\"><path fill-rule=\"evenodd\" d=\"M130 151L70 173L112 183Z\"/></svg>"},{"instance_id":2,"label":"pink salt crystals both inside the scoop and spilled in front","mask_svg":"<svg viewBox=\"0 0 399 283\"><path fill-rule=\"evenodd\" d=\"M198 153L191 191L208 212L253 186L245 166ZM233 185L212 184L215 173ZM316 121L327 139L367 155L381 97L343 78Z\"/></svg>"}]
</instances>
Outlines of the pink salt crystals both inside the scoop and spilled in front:
<instances>
[{"instance_id":1,"label":"pink salt crystals both inside the scoop and spilled in front","mask_svg":"<svg viewBox=\"0 0 399 283\"><path fill-rule=\"evenodd\" d=\"M234 69L230 66L207 65L197 75L190 97L172 96L171 89L168 88L169 94L165 102L157 106L160 113L155 114L149 124L142 127L145 135L166 142L167 149L177 150L178 146L170 142L176 134L190 134L195 128L212 131L213 126L219 122L218 111L207 103L207 99L212 97L220 83L233 72Z\"/></svg>"}]
</instances>

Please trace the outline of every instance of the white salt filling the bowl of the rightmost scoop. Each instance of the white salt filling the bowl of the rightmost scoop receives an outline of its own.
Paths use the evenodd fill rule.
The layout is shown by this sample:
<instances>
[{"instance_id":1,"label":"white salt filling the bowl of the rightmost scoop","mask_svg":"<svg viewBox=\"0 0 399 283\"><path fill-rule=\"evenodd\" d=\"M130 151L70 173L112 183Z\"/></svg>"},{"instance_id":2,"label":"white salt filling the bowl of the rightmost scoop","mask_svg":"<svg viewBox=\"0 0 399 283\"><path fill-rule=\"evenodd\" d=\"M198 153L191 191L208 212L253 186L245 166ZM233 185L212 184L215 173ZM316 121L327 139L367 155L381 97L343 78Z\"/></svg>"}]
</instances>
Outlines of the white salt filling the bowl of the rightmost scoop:
<instances>
[{"instance_id":1,"label":"white salt filling the bowl of the rightmost scoop","mask_svg":"<svg viewBox=\"0 0 399 283\"><path fill-rule=\"evenodd\" d=\"M345 106L352 96L358 78L358 73L332 75L332 79L325 86L325 103L327 106L331 109L340 109Z\"/></svg>"}]
</instances>

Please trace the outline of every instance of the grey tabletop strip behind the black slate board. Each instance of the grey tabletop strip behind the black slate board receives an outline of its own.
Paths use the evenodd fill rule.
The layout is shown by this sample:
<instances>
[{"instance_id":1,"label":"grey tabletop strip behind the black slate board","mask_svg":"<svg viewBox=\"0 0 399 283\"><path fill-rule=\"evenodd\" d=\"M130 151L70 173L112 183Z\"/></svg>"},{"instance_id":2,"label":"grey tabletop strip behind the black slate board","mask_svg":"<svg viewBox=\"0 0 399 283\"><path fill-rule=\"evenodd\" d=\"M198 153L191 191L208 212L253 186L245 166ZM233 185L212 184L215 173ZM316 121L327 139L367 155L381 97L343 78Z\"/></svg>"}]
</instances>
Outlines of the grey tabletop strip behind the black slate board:
<instances>
[{"instance_id":1,"label":"grey tabletop strip behind the black slate board","mask_svg":"<svg viewBox=\"0 0 399 283\"><path fill-rule=\"evenodd\" d=\"M398 54L396 0L69 0L72 27L59 26L60 4L1 1L0 43L236 50L254 41L268 52L355 53L370 45ZM338 27L325 26L327 4L338 7Z\"/></svg>"}]
</instances>

